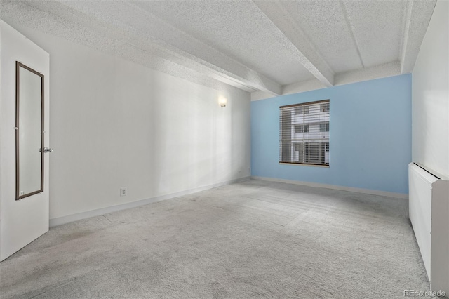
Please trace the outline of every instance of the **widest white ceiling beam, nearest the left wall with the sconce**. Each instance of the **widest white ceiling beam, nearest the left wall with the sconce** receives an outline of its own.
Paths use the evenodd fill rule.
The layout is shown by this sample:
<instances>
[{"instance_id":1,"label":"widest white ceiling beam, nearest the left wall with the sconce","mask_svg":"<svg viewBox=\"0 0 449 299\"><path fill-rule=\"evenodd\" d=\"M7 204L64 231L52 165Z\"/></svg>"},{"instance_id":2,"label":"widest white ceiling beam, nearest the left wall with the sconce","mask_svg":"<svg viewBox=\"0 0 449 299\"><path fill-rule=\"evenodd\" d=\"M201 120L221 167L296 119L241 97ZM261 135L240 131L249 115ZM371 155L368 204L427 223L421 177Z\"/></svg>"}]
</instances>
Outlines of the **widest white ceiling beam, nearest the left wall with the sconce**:
<instances>
[{"instance_id":1,"label":"widest white ceiling beam, nearest the left wall with the sconce","mask_svg":"<svg viewBox=\"0 0 449 299\"><path fill-rule=\"evenodd\" d=\"M136 46L144 51L151 51L184 67L206 73L226 84L242 86L250 91L281 95L281 84L161 20L138 2L116 1L113 5L116 5L119 8L117 11L121 13L110 18L110 15L100 13L101 3L86 5L83 1L58 1L74 11L105 22L113 32L124 32L122 36L128 37L132 34L133 41L139 41ZM133 15L133 20L127 19L126 15ZM146 20L149 26L142 28L142 20Z\"/></svg>"}]
</instances>

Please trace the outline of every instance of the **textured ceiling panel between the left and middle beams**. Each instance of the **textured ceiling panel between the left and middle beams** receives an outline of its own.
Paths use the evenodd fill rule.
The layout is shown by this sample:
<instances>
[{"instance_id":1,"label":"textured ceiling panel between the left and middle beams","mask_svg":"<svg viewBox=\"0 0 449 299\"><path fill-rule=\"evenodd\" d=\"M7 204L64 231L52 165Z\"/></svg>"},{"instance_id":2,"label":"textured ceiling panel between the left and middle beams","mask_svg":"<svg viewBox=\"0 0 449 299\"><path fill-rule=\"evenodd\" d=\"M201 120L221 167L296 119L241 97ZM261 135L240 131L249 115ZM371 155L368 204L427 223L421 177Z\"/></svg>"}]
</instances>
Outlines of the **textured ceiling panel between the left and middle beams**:
<instances>
[{"instance_id":1,"label":"textured ceiling panel between the left and middle beams","mask_svg":"<svg viewBox=\"0 0 449 299\"><path fill-rule=\"evenodd\" d=\"M145 1L136 5L281 85L313 78L253 2Z\"/></svg>"}]
</instances>

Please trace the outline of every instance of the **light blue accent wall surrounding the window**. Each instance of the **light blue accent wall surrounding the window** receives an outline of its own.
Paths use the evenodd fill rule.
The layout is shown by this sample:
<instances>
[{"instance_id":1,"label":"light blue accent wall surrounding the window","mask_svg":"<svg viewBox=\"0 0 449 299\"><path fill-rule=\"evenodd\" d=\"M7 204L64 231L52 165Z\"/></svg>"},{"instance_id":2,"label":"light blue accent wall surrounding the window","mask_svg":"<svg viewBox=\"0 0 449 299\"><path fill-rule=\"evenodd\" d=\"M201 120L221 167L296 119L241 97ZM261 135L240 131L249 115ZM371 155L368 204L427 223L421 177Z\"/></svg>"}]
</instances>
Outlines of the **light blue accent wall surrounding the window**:
<instances>
[{"instance_id":1,"label":"light blue accent wall surrounding the window","mask_svg":"<svg viewBox=\"0 0 449 299\"><path fill-rule=\"evenodd\" d=\"M408 193L411 74L251 102L251 175ZM330 100L329 168L279 164L279 107Z\"/></svg>"}]
</instances>

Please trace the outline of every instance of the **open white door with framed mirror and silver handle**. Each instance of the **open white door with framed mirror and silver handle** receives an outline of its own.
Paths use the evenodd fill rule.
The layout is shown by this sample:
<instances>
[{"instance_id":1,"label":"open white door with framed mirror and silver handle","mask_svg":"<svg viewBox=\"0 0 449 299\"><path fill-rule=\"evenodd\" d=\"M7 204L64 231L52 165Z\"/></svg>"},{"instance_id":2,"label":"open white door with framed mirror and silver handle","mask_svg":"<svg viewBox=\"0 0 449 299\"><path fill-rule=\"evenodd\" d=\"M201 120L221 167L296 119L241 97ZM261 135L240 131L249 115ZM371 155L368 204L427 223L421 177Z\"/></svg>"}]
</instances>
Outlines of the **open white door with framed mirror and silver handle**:
<instances>
[{"instance_id":1,"label":"open white door with framed mirror and silver handle","mask_svg":"<svg viewBox=\"0 0 449 299\"><path fill-rule=\"evenodd\" d=\"M32 37L32 36L30 36ZM25 131L27 126L24 124L25 118L28 117L27 113L32 112L34 109L39 109L39 105L28 107L25 104L20 109L20 123L16 125L16 67L20 62L22 66L20 68L21 79L19 79L22 87L19 91L22 93L19 98L25 98L27 95L27 84L34 86L29 88L29 94L34 95L34 89L36 88L36 80L43 79L43 145L50 147L48 139L48 119L49 119L49 55L46 51L39 48L27 37L23 36L13 27L1 21L1 236L0 236L0 255L4 260L8 256L12 255L20 248L26 246L34 239L40 237L42 234L48 232L48 166L50 154L43 154L43 168L39 164L40 169L36 171L36 165L27 164L27 157L22 157L22 152L25 150L22 147L27 148L27 142L20 139L20 151L19 157L19 172L20 177L16 178L16 131L23 134L28 132L27 136L32 136L32 139L39 140L40 137L36 137L36 134L40 134L42 127L32 131ZM29 69L35 72L29 71ZM41 76L39 76L39 74ZM33 83L34 82L34 83ZM40 81L39 81L40 82ZM22 88L22 89L21 89ZM25 89L24 89L25 88ZM30 95L30 96L31 96ZM32 97L32 96L31 96ZM42 96L37 96L39 100ZM22 103L20 104L22 105ZM39 110L40 111L40 110ZM39 113L38 113L39 114ZM34 114L33 114L34 115ZM39 114L40 116L41 114ZM35 116L34 116L35 117ZM39 119L38 119L39 120ZM29 127L29 126L28 126ZM36 133L37 132L37 133ZM39 135L40 136L40 135ZM27 139L26 139L27 140ZM36 153L41 161L41 151L39 145L32 146L31 152ZM34 157L34 156L32 156ZM41 184L40 173L43 171L43 184ZM39 181L36 182L36 175L39 175ZM20 187L16 188L16 182L20 181ZM38 185L36 187L36 184ZM17 192L16 192L17 190ZM16 195L18 193L18 195ZM32 194L27 197L24 195ZM18 197L22 197L18 199Z\"/></svg>"}]
</instances>

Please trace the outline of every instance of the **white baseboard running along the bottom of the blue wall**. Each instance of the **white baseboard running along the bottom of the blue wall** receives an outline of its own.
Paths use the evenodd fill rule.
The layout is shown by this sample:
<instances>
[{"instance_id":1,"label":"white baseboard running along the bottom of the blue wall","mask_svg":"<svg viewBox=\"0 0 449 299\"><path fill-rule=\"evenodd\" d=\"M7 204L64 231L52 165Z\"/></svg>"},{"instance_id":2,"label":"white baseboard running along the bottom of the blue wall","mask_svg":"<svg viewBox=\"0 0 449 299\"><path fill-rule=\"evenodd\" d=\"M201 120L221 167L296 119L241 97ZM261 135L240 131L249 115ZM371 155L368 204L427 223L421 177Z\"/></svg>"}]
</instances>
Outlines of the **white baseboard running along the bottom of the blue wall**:
<instances>
[{"instance_id":1,"label":"white baseboard running along the bottom of the blue wall","mask_svg":"<svg viewBox=\"0 0 449 299\"><path fill-rule=\"evenodd\" d=\"M304 186L309 186L309 187L321 187L321 188L335 189L335 190L342 190L342 191L349 191L349 192L373 194L373 195L380 195L382 197L395 197L398 199L408 199L408 194L405 194L405 193L395 193L395 192L370 190L370 189L362 189L362 188L355 188L355 187L328 185L328 184L321 184L318 182L302 182L299 180L284 180L281 178L265 178L265 177L261 177L261 176L251 176L251 178L255 179L255 180L267 180L269 182L286 182L287 184L304 185Z\"/></svg>"}]
</instances>

